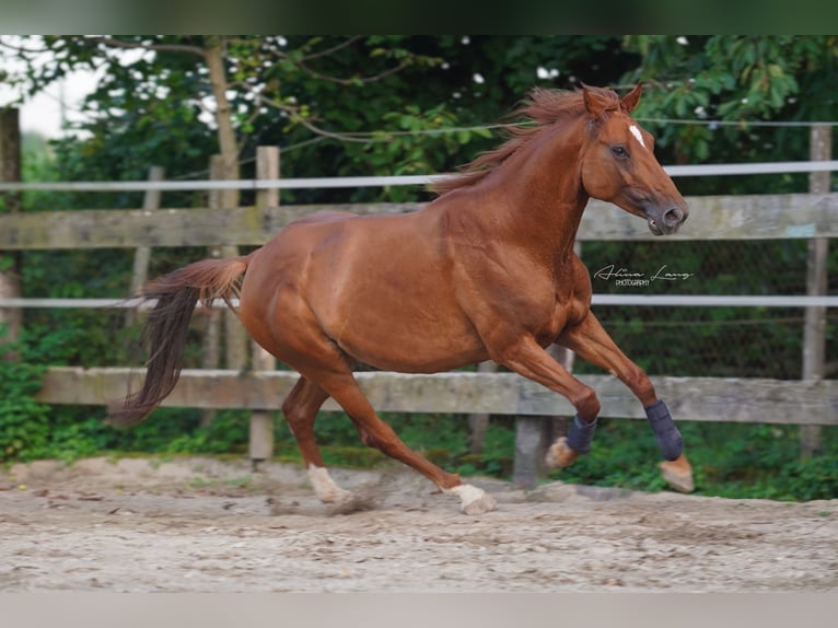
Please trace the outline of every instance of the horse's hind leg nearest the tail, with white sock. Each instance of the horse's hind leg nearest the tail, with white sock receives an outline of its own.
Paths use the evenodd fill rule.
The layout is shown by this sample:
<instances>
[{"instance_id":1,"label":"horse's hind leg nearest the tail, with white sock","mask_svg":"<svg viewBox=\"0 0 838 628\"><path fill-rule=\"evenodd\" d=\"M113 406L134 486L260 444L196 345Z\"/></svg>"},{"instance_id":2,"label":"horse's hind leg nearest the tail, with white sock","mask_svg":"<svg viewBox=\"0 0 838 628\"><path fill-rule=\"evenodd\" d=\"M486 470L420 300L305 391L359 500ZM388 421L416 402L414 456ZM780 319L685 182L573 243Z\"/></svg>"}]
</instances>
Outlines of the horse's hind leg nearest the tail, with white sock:
<instances>
[{"instance_id":1,"label":"horse's hind leg nearest the tail, with white sock","mask_svg":"<svg viewBox=\"0 0 838 628\"><path fill-rule=\"evenodd\" d=\"M351 493L331 479L314 438L314 420L327 398L328 394L317 384L300 377L282 404L282 414L300 447L317 499L324 503L346 503L351 499Z\"/></svg>"}]
</instances>

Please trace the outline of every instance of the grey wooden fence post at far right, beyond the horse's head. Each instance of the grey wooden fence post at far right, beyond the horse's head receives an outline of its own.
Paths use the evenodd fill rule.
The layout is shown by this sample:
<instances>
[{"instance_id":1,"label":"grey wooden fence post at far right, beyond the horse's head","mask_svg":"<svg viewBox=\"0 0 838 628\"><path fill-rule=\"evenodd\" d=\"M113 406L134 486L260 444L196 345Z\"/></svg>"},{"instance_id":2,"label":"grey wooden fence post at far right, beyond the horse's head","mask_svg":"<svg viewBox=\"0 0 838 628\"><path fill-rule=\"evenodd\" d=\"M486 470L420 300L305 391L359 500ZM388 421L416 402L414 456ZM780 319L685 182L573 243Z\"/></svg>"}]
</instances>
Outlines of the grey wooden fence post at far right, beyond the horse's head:
<instances>
[{"instance_id":1,"label":"grey wooden fence post at far right, beyond the horse's head","mask_svg":"<svg viewBox=\"0 0 838 628\"><path fill-rule=\"evenodd\" d=\"M810 135L810 159L812 161L828 161L833 156L833 129L829 125L812 127ZM813 172L808 175L808 191L811 194L828 194L830 190L830 172ZM825 295L827 289L827 257L829 240L814 237L808 241L808 260L806 263L806 294L810 296ZM825 374L826 347L826 307L806 307L806 318L803 328L803 380L822 380ZM820 426L801 426L800 454L811 457L822 446Z\"/></svg>"}]
</instances>

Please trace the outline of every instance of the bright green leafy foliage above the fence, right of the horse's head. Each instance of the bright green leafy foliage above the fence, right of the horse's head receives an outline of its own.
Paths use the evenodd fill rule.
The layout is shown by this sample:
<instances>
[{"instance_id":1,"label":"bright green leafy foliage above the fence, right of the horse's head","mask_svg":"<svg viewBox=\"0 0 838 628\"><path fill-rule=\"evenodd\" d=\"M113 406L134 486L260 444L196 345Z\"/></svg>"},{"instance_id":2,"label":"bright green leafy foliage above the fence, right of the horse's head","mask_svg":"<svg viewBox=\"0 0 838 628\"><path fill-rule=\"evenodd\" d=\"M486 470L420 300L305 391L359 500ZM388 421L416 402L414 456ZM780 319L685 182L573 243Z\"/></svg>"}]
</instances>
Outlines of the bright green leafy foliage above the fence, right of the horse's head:
<instances>
[{"instance_id":1,"label":"bright green leafy foliage above the fence, right of the horse's head","mask_svg":"<svg viewBox=\"0 0 838 628\"><path fill-rule=\"evenodd\" d=\"M827 35L632 35L643 80L639 118L650 123L670 163L808 159L807 127L765 121L833 120L838 111L838 37ZM702 124L696 124L702 123ZM803 191L805 175L685 179L688 194Z\"/></svg>"}]
</instances>

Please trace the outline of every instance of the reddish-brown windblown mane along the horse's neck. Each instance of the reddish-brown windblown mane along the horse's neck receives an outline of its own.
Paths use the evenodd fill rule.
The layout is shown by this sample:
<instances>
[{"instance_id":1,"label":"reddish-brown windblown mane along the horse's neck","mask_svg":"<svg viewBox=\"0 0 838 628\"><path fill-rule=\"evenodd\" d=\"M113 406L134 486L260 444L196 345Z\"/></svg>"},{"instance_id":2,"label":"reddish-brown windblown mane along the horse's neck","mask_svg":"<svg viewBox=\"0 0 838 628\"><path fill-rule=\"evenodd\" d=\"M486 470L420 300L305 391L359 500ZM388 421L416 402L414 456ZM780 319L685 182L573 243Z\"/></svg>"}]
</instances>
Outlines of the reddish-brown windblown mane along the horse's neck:
<instances>
[{"instance_id":1,"label":"reddish-brown windblown mane along the horse's neck","mask_svg":"<svg viewBox=\"0 0 838 628\"><path fill-rule=\"evenodd\" d=\"M614 106L607 109L620 107L619 96L612 90L602 88L586 88L601 96L613 100ZM585 114L585 104L581 90L561 91L535 88L529 92L521 106L509 118L521 119L524 126L511 126L507 133L509 139L497 149L481 153L472 163L463 166L459 172L449 178L439 181L430 186L430 190L443 195L453 189L474 185L501 165L511 154L521 147L529 143L546 128L555 123L575 119Z\"/></svg>"}]
</instances>

